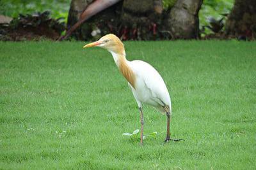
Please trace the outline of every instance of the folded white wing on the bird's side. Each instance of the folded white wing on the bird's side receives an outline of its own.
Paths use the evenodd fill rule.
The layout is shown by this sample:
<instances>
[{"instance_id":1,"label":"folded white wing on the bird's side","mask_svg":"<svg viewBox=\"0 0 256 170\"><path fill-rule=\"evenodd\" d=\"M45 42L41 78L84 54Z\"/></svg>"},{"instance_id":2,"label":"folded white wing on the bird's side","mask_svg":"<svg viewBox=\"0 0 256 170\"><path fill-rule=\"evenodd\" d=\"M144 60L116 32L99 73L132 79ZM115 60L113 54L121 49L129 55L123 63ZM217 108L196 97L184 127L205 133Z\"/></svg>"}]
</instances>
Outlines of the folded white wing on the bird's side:
<instances>
[{"instance_id":1,"label":"folded white wing on the bird's side","mask_svg":"<svg viewBox=\"0 0 256 170\"><path fill-rule=\"evenodd\" d=\"M154 101L161 106L169 106L171 108L170 95L161 75L150 66L147 62L134 60L131 62L132 70L136 76L143 79L145 85L154 97Z\"/></svg>"}]
</instances>

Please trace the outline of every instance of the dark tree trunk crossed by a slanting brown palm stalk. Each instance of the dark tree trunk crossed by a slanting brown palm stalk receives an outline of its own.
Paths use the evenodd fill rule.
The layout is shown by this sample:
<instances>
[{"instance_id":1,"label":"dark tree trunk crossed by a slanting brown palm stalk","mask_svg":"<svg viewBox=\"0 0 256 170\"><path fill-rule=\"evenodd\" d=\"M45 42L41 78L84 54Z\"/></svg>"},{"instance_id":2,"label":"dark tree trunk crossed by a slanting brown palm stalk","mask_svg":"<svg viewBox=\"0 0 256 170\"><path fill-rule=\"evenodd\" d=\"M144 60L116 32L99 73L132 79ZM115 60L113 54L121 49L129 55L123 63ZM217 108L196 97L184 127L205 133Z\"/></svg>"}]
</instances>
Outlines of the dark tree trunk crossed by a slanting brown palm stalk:
<instances>
[{"instance_id":1,"label":"dark tree trunk crossed by a slanting brown palm stalk","mask_svg":"<svg viewBox=\"0 0 256 170\"><path fill-rule=\"evenodd\" d=\"M81 13L91 3L93 3L93 0L72 0L68 13L68 28L76 24ZM97 40L108 33L117 34L121 11L122 1L86 20L76 31L72 32L71 37L77 40L90 41Z\"/></svg>"}]
</instances>

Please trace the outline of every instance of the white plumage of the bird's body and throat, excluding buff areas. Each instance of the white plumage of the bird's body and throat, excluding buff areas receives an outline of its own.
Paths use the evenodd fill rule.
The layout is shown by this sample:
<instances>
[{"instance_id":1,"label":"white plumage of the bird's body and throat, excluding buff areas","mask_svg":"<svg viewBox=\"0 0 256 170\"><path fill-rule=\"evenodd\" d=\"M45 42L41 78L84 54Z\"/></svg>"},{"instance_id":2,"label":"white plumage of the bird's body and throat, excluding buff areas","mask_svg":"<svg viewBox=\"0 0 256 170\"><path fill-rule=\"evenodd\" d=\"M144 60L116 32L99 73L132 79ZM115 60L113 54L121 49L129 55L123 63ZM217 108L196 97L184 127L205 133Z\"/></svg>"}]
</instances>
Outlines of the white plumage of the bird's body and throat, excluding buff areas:
<instances>
[{"instance_id":1,"label":"white plumage of the bird's body and throat, excluding buff areas","mask_svg":"<svg viewBox=\"0 0 256 170\"><path fill-rule=\"evenodd\" d=\"M118 54L111 52L116 66L119 65ZM135 74L136 81L134 87L128 82L132 90L132 94L136 99L139 108L142 104L154 106L161 112L165 106L168 106L170 113L172 113L171 99L167 87L161 75L147 62L142 60L129 61L125 59L127 65Z\"/></svg>"}]
</instances>

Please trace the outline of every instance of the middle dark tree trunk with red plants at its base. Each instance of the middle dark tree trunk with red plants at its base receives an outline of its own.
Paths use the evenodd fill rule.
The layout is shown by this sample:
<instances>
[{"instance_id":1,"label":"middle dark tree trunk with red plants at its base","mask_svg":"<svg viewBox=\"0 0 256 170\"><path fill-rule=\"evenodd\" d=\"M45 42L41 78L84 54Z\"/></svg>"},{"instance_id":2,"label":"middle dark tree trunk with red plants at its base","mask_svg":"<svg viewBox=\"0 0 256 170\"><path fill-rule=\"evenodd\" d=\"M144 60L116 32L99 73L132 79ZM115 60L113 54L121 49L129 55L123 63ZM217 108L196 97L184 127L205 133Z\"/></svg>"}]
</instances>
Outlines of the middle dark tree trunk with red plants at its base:
<instances>
[{"instance_id":1,"label":"middle dark tree trunk with red plants at its base","mask_svg":"<svg viewBox=\"0 0 256 170\"><path fill-rule=\"evenodd\" d=\"M121 39L156 39L162 12L162 0L124 0Z\"/></svg>"}]
</instances>

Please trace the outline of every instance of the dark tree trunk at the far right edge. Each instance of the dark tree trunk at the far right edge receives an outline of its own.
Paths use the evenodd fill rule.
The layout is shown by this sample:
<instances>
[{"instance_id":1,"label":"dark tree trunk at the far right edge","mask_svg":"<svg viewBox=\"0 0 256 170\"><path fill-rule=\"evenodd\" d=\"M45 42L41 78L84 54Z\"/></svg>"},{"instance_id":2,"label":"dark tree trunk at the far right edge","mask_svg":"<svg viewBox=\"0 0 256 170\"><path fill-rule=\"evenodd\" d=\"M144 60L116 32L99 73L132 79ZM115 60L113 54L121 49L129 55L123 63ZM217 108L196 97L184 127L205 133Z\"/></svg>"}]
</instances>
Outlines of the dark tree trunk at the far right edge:
<instances>
[{"instance_id":1,"label":"dark tree trunk at the far right edge","mask_svg":"<svg viewBox=\"0 0 256 170\"><path fill-rule=\"evenodd\" d=\"M236 38L256 38L256 1L236 0L226 22L226 34Z\"/></svg>"}]
</instances>

